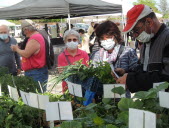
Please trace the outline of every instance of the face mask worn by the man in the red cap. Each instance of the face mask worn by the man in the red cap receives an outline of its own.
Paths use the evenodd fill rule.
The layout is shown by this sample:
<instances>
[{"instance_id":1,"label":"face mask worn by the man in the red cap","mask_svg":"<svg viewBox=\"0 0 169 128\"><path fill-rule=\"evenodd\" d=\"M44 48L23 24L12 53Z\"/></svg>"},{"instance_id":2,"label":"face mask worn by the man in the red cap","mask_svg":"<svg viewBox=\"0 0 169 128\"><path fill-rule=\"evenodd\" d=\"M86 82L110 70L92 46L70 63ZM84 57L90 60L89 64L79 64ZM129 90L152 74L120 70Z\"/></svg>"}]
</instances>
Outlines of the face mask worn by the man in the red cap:
<instances>
[{"instance_id":1,"label":"face mask worn by the man in the red cap","mask_svg":"<svg viewBox=\"0 0 169 128\"><path fill-rule=\"evenodd\" d=\"M143 31L136 39L140 42L149 42L151 38L154 37L154 33L148 34L147 32Z\"/></svg>"}]
</instances>

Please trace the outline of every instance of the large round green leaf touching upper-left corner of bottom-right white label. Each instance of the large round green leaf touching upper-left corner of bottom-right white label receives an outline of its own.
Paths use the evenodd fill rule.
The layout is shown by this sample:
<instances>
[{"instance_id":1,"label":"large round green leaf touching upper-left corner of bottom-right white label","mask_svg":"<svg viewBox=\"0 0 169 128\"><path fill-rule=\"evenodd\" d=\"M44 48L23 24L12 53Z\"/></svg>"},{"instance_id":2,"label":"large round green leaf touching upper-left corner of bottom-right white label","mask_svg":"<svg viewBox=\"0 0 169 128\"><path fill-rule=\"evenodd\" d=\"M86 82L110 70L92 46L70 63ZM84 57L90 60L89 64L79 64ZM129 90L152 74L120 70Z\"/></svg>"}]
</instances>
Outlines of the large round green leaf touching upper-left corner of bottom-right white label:
<instances>
[{"instance_id":1,"label":"large round green leaf touching upper-left corner of bottom-right white label","mask_svg":"<svg viewBox=\"0 0 169 128\"><path fill-rule=\"evenodd\" d=\"M134 107L134 102L132 99L130 98L122 98L119 102L118 102L118 108L121 111L128 111L129 108L133 108Z\"/></svg>"}]
</instances>

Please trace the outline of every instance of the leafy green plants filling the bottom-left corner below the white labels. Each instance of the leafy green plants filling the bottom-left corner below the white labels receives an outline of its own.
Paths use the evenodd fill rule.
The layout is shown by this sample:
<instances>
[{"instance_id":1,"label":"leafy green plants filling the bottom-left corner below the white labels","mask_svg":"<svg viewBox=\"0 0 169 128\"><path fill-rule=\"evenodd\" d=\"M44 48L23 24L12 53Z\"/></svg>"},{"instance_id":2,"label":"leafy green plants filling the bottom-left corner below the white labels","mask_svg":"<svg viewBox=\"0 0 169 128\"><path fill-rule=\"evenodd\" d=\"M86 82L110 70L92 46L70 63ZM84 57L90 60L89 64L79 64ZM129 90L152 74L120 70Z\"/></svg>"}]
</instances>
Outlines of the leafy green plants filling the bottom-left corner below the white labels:
<instances>
[{"instance_id":1,"label":"leafy green plants filling the bottom-left corner below the white labels","mask_svg":"<svg viewBox=\"0 0 169 128\"><path fill-rule=\"evenodd\" d=\"M0 97L0 128L39 128L44 111Z\"/></svg>"}]
</instances>

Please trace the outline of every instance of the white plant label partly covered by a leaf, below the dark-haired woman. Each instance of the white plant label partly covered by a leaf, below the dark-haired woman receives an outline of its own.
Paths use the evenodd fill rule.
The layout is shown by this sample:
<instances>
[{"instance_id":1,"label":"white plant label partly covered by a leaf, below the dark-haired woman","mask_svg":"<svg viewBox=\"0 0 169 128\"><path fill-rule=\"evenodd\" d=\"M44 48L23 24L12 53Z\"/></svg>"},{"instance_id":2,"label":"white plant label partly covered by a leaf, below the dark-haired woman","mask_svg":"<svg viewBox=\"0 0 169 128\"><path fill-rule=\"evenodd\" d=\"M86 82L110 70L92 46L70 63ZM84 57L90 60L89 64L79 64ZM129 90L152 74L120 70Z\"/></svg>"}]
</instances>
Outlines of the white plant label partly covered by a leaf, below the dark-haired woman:
<instances>
[{"instance_id":1,"label":"white plant label partly covered by a leaf, below the dark-haired woman","mask_svg":"<svg viewBox=\"0 0 169 128\"><path fill-rule=\"evenodd\" d=\"M122 98L122 97L125 97L125 94L120 96L117 93L113 93L111 90L115 87L125 88L125 85L124 84L103 84L104 98Z\"/></svg>"}]
</instances>

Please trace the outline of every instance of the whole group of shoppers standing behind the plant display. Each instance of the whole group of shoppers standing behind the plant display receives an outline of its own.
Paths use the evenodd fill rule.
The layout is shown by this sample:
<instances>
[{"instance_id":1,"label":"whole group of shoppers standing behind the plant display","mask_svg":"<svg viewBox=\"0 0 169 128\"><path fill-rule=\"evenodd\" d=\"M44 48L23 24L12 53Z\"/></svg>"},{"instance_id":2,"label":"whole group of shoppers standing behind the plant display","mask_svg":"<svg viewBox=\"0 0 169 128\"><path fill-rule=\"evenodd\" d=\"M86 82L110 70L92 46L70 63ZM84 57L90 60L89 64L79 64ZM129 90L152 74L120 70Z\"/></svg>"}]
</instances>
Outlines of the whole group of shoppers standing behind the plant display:
<instances>
[{"instance_id":1,"label":"whole group of shoppers standing behind the plant display","mask_svg":"<svg viewBox=\"0 0 169 128\"><path fill-rule=\"evenodd\" d=\"M22 20L21 27L27 38L24 49L9 36L7 26L0 26L0 66L8 67L12 75L19 74L22 69L35 81L47 82L45 39L31 20ZM136 39L140 57L135 49L125 46L122 33L130 33ZM81 59L86 66L89 60L95 66L97 62L109 62L120 76L116 82L125 85L128 97L130 92L149 90L155 82L169 81L169 28L159 22L147 5L135 5L128 11L122 32L112 21L92 22L88 33L83 29L66 30L63 39L65 49L57 58L59 73L63 71L61 67ZM64 92L64 80L62 87Z\"/></svg>"}]
</instances>

